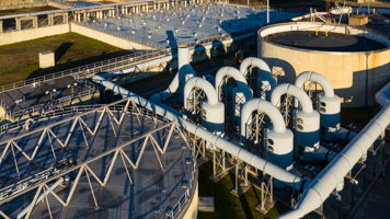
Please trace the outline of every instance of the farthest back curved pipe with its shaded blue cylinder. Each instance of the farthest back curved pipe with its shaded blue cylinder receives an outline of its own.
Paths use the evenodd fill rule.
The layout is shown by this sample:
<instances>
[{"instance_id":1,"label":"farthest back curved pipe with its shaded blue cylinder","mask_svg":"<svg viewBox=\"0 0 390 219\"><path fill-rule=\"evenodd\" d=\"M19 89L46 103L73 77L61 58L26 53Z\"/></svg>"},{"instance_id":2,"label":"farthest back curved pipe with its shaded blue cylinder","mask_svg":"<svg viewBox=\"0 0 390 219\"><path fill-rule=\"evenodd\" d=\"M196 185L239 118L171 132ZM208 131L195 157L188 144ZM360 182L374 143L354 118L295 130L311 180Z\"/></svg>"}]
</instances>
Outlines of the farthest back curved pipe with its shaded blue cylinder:
<instances>
[{"instance_id":1,"label":"farthest back curved pipe with its shaded blue cylinder","mask_svg":"<svg viewBox=\"0 0 390 219\"><path fill-rule=\"evenodd\" d=\"M271 92L276 87L276 80L272 77L268 65L260 58L248 57L242 60L240 65L240 71L244 77L246 77L249 70L248 67L250 66L257 67L262 72L262 76L257 77L256 81L257 96L269 101Z\"/></svg>"}]
</instances>

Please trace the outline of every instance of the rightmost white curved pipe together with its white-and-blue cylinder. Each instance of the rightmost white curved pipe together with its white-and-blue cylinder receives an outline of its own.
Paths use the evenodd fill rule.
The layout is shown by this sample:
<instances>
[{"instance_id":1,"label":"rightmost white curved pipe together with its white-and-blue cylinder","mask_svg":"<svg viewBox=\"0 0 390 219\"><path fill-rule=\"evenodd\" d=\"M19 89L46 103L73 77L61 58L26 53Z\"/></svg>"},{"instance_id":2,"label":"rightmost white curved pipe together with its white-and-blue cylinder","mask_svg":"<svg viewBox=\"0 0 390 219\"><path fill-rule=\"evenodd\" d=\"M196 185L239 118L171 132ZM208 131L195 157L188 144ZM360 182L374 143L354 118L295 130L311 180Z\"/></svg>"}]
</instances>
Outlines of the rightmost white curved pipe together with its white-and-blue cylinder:
<instances>
[{"instance_id":1,"label":"rightmost white curved pipe together with its white-and-blue cylinder","mask_svg":"<svg viewBox=\"0 0 390 219\"><path fill-rule=\"evenodd\" d=\"M321 85L323 94L318 95L318 112L320 113L320 137L324 140L336 140L336 132L341 131L340 112L341 101L334 94L331 82L320 73L305 71L295 80L295 85L305 89L305 82L313 81ZM295 100L295 107L298 107L298 101Z\"/></svg>"}]
</instances>

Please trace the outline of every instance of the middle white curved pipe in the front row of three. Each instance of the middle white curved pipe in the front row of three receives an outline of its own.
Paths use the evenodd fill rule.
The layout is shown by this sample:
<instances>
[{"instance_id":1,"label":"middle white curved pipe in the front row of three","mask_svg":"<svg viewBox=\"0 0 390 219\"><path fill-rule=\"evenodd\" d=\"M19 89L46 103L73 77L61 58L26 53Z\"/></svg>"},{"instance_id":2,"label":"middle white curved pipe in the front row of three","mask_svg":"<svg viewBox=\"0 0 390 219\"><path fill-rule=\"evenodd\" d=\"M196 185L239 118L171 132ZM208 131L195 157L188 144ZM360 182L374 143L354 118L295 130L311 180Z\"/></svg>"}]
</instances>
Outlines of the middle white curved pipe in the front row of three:
<instances>
[{"instance_id":1,"label":"middle white curved pipe in the front row of three","mask_svg":"<svg viewBox=\"0 0 390 219\"><path fill-rule=\"evenodd\" d=\"M283 94L291 94L298 99L298 101L302 104L302 112L311 113L313 111L313 106L311 105L308 94L306 94L300 88L288 83L282 83L272 91L271 103L278 107L280 105L280 96Z\"/></svg>"}]
</instances>

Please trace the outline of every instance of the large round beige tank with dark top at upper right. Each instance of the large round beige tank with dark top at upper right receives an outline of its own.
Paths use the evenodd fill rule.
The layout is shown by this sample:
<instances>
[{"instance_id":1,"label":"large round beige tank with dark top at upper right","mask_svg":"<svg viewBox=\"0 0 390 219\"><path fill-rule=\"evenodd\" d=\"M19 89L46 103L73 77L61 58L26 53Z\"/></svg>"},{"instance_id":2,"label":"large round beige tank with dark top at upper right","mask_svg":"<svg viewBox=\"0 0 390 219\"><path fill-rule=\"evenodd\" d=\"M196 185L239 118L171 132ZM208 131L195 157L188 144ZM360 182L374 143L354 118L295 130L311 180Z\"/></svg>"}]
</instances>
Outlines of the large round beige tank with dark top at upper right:
<instances>
[{"instance_id":1,"label":"large round beige tank with dark top at upper right","mask_svg":"<svg viewBox=\"0 0 390 219\"><path fill-rule=\"evenodd\" d=\"M257 36L257 56L278 83L294 83L300 72L316 71L332 83L343 107L372 104L375 93L390 80L390 41L370 30L290 22L265 26Z\"/></svg>"}]
</instances>

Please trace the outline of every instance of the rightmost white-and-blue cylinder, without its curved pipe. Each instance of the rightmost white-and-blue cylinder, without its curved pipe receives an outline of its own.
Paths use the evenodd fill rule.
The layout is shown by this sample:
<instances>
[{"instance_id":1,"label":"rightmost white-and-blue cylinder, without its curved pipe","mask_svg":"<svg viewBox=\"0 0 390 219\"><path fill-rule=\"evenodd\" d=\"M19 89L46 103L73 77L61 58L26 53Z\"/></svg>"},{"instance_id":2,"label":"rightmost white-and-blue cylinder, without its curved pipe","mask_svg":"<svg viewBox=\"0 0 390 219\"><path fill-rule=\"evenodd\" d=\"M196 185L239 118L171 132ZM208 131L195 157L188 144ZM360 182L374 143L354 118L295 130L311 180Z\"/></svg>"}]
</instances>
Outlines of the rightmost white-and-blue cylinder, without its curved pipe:
<instances>
[{"instance_id":1,"label":"rightmost white-and-blue cylinder, without its curved pipe","mask_svg":"<svg viewBox=\"0 0 390 219\"><path fill-rule=\"evenodd\" d=\"M318 95L318 111L320 113L320 137L324 140L335 140L334 134L340 129L340 97Z\"/></svg>"}]
</instances>

